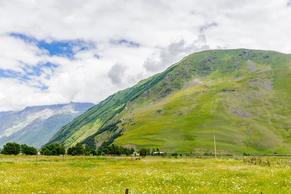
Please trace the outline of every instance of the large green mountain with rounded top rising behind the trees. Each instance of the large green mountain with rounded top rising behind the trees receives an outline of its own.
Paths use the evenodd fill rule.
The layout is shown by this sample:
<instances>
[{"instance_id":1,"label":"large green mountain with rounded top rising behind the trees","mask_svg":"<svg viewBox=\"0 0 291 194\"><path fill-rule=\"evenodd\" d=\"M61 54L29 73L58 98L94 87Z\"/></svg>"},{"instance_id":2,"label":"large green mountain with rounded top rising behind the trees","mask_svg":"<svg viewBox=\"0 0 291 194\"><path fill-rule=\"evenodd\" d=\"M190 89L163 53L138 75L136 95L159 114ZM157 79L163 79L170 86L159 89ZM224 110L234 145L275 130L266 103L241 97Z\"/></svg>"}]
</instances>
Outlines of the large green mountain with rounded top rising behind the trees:
<instances>
[{"instance_id":1,"label":"large green mountain with rounded top rising behind the trees","mask_svg":"<svg viewBox=\"0 0 291 194\"><path fill-rule=\"evenodd\" d=\"M112 143L166 152L291 153L291 54L193 53L109 96L49 143Z\"/></svg>"}]
</instances>

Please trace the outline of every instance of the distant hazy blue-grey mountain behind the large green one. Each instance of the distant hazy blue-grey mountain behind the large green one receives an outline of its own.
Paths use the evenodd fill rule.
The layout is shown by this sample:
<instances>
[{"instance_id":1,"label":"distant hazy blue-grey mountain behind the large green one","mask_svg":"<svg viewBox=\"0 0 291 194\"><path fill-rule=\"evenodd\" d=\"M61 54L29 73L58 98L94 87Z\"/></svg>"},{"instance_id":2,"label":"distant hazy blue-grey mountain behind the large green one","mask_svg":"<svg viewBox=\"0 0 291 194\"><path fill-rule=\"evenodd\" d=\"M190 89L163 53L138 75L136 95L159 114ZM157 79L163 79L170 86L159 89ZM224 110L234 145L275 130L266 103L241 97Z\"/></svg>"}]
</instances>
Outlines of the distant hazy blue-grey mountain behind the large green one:
<instances>
[{"instance_id":1,"label":"distant hazy blue-grey mountain behind the large green one","mask_svg":"<svg viewBox=\"0 0 291 194\"><path fill-rule=\"evenodd\" d=\"M6 142L17 142L40 148L62 126L92 106L94 104L70 103L0 112L0 147Z\"/></svg>"}]
</instances>

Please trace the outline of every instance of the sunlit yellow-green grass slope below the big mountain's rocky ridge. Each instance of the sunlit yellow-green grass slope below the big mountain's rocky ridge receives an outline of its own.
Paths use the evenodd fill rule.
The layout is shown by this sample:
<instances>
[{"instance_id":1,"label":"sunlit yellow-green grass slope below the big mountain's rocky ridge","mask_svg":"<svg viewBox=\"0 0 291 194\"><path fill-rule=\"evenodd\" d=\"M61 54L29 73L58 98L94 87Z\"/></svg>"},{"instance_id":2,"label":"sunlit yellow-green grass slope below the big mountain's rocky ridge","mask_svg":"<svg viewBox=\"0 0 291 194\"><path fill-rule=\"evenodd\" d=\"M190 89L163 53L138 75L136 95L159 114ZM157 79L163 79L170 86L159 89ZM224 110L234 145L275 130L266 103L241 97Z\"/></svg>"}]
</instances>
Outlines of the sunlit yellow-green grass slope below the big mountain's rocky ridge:
<instances>
[{"instance_id":1,"label":"sunlit yellow-green grass slope below the big mountain's rocky ridge","mask_svg":"<svg viewBox=\"0 0 291 194\"><path fill-rule=\"evenodd\" d=\"M213 153L215 134L220 153L290 154L289 59L254 67L245 62L229 74L215 71L200 85L177 90L136 112L131 117L135 124L125 124L124 135L115 142L168 152Z\"/></svg>"}]
</instances>

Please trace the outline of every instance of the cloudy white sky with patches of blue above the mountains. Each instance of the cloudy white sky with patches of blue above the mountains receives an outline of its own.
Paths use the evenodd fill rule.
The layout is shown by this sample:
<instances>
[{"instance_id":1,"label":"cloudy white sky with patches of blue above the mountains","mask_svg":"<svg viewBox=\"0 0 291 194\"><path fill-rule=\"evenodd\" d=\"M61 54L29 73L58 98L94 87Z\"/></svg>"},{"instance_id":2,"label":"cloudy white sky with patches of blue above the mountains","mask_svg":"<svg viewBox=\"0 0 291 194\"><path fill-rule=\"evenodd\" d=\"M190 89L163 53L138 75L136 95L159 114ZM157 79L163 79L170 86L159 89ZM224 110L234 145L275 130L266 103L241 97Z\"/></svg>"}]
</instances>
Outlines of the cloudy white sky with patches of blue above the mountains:
<instances>
[{"instance_id":1,"label":"cloudy white sky with patches of blue above the mountains","mask_svg":"<svg viewBox=\"0 0 291 194\"><path fill-rule=\"evenodd\" d=\"M90 102L190 53L291 53L291 0L1 0L0 111Z\"/></svg>"}]
</instances>

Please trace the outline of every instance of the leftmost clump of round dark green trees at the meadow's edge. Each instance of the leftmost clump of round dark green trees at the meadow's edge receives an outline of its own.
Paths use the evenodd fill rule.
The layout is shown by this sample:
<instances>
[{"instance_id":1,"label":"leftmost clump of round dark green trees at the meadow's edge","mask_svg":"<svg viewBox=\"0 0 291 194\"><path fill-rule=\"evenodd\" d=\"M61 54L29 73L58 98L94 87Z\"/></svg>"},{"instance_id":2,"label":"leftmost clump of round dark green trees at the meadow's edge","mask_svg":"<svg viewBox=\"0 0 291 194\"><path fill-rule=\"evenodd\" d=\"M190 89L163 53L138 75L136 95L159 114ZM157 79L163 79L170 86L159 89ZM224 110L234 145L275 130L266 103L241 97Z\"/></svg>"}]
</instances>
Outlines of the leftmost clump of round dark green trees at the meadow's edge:
<instances>
[{"instance_id":1,"label":"leftmost clump of round dark green trees at the meadow's edge","mask_svg":"<svg viewBox=\"0 0 291 194\"><path fill-rule=\"evenodd\" d=\"M1 154L5 155L17 155L20 153L25 155L36 155L37 149L33 146L28 146L26 144L19 145L15 142L7 142L5 145L3 145L3 149L1 150Z\"/></svg>"}]
</instances>

